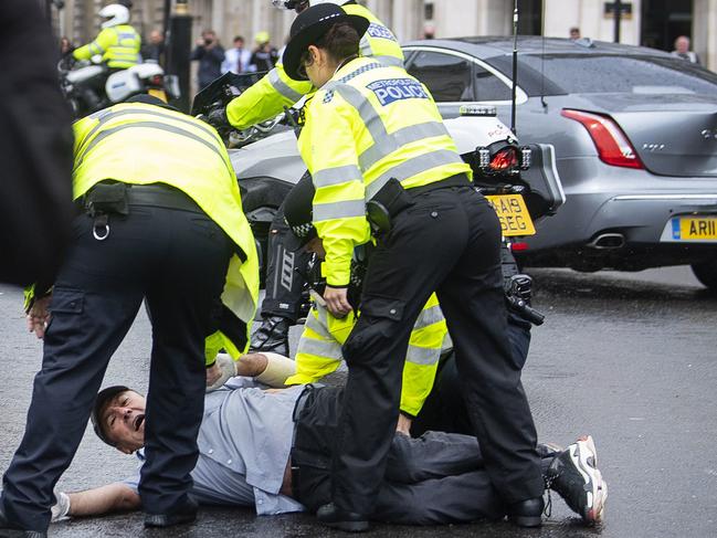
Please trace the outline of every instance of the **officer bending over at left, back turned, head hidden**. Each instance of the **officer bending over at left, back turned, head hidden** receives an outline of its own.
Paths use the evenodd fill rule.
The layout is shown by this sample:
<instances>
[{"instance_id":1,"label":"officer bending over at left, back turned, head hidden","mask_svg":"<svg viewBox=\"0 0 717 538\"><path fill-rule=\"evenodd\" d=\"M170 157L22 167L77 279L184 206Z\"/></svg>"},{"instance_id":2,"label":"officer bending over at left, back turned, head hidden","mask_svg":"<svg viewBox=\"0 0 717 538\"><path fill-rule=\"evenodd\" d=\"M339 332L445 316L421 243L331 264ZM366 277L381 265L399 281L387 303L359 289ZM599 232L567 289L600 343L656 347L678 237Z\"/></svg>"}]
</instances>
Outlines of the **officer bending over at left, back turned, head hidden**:
<instances>
[{"instance_id":1,"label":"officer bending over at left, back turned, head hidden","mask_svg":"<svg viewBox=\"0 0 717 538\"><path fill-rule=\"evenodd\" d=\"M259 294L254 239L217 131L149 96L75 124L80 214L54 288L34 297L44 337L25 434L4 475L12 528L45 531L53 487L85 431L108 360L146 302L152 324L145 526L193 520L205 349L247 347ZM158 106L159 105L159 106ZM214 357L209 354L210 361Z\"/></svg>"}]
</instances>

